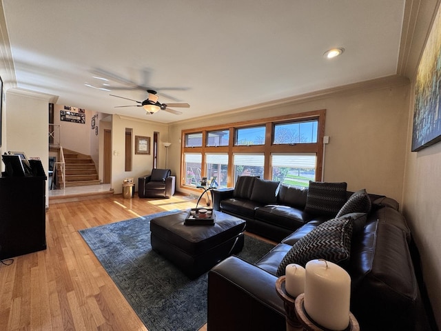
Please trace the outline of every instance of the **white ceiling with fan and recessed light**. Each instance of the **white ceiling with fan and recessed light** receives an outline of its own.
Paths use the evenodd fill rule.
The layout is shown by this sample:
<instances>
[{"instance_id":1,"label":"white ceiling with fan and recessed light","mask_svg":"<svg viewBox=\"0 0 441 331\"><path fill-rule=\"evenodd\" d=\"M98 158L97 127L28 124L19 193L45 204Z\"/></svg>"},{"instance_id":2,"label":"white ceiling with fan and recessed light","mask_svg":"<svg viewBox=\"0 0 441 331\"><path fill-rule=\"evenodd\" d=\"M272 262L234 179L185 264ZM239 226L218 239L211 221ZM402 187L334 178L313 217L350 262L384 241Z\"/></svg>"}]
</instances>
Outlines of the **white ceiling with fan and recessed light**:
<instances>
[{"instance_id":1,"label":"white ceiling with fan and recessed light","mask_svg":"<svg viewBox=\"0 0 441 331\"><path fill-rule=\"evenodd\" d=\"M17 87L170 123L397 73L404 0L3 0ZM342 56L322 54L342 47ZM100 87L109 79L112 92ZM114 108L189 103L146 115ZM167 88L172 88L167 90ZM176 88L174 90L173 88Z\"/></svg>"}]
</instances>

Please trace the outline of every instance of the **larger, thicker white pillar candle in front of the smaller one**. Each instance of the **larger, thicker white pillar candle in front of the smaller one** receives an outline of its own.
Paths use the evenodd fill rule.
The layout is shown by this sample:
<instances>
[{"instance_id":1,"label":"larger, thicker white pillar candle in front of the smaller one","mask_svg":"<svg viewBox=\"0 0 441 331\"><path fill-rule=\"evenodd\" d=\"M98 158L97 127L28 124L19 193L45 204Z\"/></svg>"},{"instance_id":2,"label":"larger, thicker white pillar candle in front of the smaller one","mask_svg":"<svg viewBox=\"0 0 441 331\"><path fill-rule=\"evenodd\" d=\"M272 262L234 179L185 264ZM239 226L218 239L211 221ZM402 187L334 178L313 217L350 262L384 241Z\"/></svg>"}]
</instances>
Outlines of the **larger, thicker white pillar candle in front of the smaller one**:
<instances>
[{"instance_id":1,"label":"larger, thicker white pillar candle in front of the smaller one","mask_svg":"<svg viewBox=\"0 0 441 331\"><path fill-rule=\"evenodd\" d=\"M325 260L305 265L305 310L316 323L329 330L349 325L351 277L340 266Z\"/></svg>"}]
</instances>

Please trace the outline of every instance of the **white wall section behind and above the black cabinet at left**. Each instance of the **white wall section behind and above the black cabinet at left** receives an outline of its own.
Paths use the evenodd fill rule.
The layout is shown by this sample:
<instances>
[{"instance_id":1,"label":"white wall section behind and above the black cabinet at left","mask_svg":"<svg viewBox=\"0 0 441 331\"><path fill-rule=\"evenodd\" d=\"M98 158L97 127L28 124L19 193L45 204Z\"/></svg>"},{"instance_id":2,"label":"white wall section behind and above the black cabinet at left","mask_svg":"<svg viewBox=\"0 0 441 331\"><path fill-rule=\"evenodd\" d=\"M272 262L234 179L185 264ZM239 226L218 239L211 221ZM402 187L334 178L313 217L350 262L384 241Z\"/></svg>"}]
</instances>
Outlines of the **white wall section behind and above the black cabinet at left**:
<instances>
[{"instance_id":1,"label":"white wall section behind and above the black cabinet at left","mask_svg":"<svg viewBox=\"0 0 441 331\"><path fill-rule=\"evenodd\" d=\"M48 152L48 94L10 89L6 92L3 108L6 130L3 132L1 152L25 152L27 157L39 157L46 174L49 169ZM4 169L4 168L3 168ZM49 205L46 181L46 205Z\"/></svg>"}]
</instances>

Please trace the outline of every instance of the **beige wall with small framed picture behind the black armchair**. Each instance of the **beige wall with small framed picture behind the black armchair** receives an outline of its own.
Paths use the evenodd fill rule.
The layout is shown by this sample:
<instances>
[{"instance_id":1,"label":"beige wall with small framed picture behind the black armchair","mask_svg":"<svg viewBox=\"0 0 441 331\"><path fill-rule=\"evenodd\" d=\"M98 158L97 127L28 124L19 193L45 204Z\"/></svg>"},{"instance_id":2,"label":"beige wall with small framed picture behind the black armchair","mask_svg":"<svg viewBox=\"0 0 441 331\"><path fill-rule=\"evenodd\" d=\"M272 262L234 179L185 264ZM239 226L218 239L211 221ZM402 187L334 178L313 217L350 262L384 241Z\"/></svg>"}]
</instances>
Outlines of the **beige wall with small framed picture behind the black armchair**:
<instances>
[{"instance_id":1,"label":"beige wall with small framed picture behind the black armchair","mask_svg":"<svg viewBox=\"0 0 441 331\"><path fill-rule=\"evenodd\" d=\"M132 171L125 171L125 130L132 129ZM136 190L138 190L138 177L144 174L150 174L153 165L153 154L134 154L135 136L150 137L150 149L152 150L153 132L159 132L158 146L158 168L165 166L165 148L162 142L168 139L168 128L166 124L133 119L131 117L112 116L112 188L115 194L121 194L123 180L127 177L133 177Z\"/></svg>"}]
</instances>

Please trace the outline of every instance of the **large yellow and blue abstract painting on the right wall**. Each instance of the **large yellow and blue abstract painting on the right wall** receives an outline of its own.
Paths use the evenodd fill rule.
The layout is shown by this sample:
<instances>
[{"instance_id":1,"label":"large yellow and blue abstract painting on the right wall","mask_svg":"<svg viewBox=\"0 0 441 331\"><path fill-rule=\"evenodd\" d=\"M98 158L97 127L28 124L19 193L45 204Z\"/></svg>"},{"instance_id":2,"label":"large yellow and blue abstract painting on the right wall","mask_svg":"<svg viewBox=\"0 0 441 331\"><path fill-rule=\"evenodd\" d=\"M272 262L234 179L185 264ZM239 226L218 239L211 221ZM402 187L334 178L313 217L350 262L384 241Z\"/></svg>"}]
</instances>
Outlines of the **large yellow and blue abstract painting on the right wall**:
<instances>
[{"instance_id":1,"label":"large yellow and blue abstract painting on the right wall","mask_svg":"<svg viewBox=\"0 0 441 331\"><path fill-rule=\"evenodd\" d=\"M412 152L441 141L441 6L422 52L415 83Z\"/></svg>"}]
</instances>

